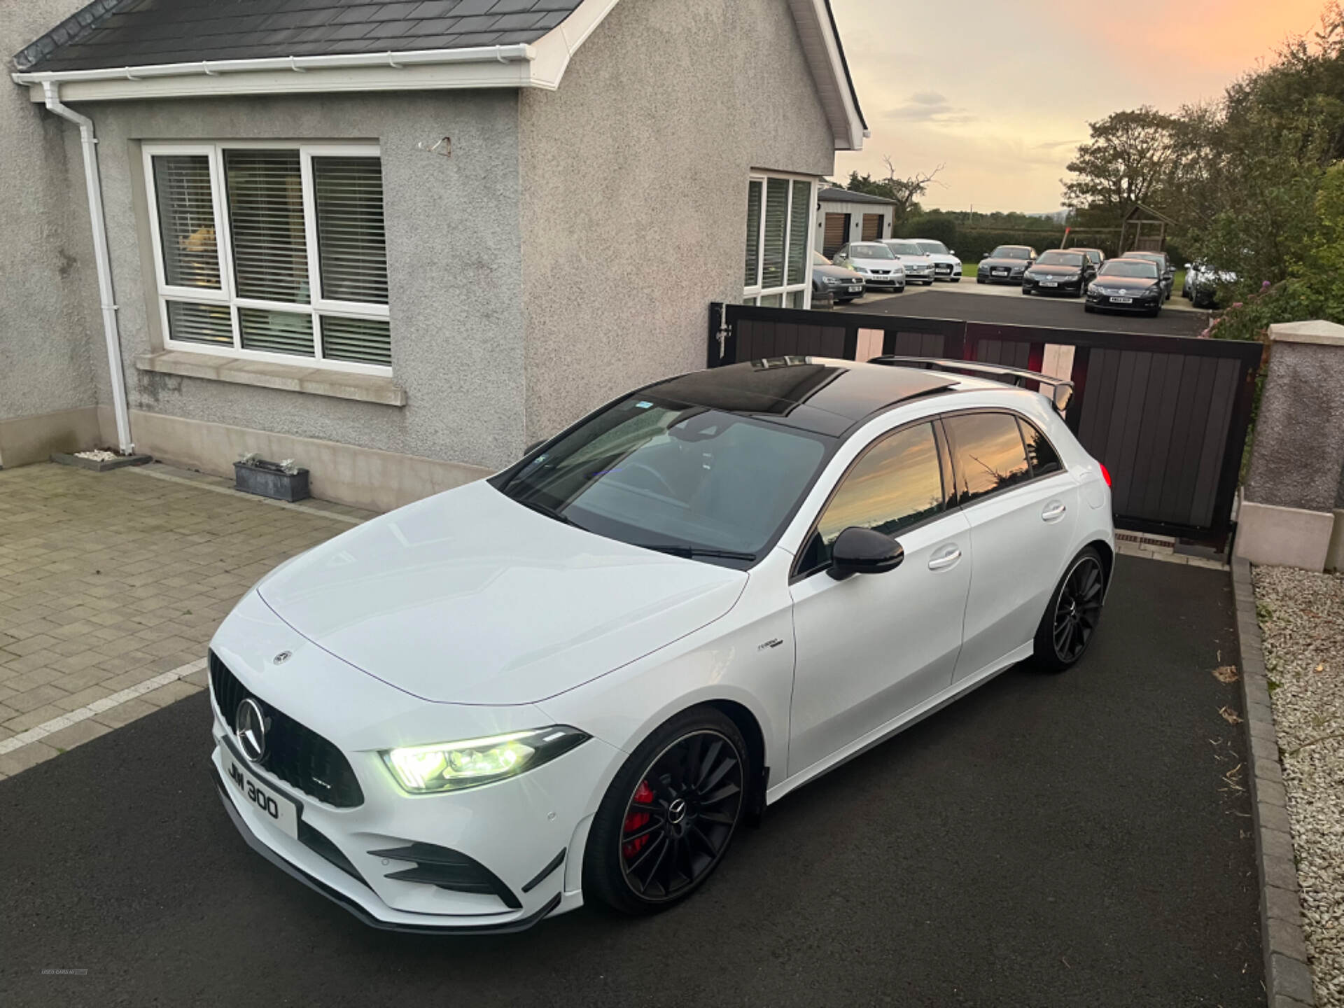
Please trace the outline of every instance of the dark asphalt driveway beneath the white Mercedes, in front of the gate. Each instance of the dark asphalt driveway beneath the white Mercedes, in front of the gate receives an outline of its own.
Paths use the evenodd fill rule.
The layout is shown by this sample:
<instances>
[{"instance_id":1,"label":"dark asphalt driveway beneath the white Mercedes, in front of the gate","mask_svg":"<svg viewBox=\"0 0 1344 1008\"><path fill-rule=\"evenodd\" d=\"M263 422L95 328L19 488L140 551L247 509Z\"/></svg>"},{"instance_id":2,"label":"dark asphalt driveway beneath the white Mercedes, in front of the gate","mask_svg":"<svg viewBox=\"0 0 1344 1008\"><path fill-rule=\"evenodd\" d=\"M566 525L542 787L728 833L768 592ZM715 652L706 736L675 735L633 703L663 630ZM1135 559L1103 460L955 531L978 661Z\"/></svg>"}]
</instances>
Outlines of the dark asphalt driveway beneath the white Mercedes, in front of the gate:
<instances>
[{"instance_id":1,"label":"dark asphalt driveway beneath the white Mercedes, in front of the gate","mask_svg":"<svg viewBox=\"0 0 1344 1008\"><path fill-rule=\"evenodd\" d=\"M1121 558L1073 673L804 788L677 910L491 938L371 930L254 855L196 694L0 781L0 1004L1262 1005L1232 625L1226 574Z\"/></svg>"}]
</instances>

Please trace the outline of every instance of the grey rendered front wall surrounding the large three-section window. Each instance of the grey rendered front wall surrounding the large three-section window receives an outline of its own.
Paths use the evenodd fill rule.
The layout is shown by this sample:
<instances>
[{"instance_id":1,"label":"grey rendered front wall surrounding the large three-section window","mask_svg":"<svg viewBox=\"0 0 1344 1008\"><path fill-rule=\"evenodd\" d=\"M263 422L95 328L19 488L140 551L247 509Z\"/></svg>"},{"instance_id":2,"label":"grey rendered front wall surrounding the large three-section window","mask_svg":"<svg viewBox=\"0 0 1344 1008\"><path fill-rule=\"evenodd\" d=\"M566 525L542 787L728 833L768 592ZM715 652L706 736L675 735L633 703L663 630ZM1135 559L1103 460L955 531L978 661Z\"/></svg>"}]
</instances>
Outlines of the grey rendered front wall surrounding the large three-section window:
<instances>
[{"instance_id":1,"label":"grey rendered front wall surrounding the large three-section window","mask_svg":"<svg viewBox=\"0 0 1344 1008\"><path fill-rule=\"evenodd\" d=\"M253 450L277 444L274 434L446 464L418 491L413 485L380 499L383 507L517 457L523 313L515 91L98 102L81 112L93 117L99 137L122 370L138 450L228 472L249 444L247 431L257 431ZM445 136L452 138L449 157L429 151ZM161 349L141 142L267 138L380 144L392 371L407 392L405 406L136 367L137 356ZM82 188L67 188L65 199L74 192ZM102 402L110 402L105 372L99 384ZM332 480L333 487L353 484L364 458L341 457L349 478Z\"/></svg>"}]
</instances>

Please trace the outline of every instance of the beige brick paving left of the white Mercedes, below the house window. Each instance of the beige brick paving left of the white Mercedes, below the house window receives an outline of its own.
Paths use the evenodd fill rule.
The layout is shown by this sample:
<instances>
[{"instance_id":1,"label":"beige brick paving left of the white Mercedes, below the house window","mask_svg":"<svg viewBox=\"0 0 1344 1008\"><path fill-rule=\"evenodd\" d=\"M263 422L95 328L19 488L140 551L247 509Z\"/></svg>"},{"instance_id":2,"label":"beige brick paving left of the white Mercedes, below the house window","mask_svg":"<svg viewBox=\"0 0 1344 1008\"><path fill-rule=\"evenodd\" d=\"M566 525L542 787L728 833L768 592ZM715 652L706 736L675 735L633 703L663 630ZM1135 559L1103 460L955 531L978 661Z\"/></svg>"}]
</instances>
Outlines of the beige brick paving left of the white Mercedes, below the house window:
<instances>
[{"instance_id":1,"label":"beige brick paving left of the white Mercedes, below the house window","mask_svg":"<svg viewBox=\"0 0 1344 1008\"><path fill-rule=\"evenodd\" d=\"M219 621L267 570L368 517L324 501L278 505L163 465L0 472L0 777L204 685ZM122 691L165 677L125 699ZM116 702L91 716L89 704ZM13 739L5 745L7 739Z\"/></svg>"}]
</instances>

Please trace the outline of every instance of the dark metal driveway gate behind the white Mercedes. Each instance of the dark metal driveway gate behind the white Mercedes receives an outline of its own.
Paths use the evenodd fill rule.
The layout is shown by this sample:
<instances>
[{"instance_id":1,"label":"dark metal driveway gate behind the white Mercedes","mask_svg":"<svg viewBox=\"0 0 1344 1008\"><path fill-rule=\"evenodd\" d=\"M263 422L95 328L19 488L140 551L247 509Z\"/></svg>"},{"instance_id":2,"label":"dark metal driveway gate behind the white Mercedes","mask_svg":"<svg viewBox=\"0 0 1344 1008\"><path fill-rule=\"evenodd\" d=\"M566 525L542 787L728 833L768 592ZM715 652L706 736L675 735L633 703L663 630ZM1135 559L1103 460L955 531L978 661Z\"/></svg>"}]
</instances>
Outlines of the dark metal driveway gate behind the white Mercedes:
<instances>
[{"instance_id":1,"label":"dark metal driveway gate behind the white Mercedes","mask_svg":"<svg viewBox=\"0 0 1344 1008\"><path fill-rule=\"evenodd\" d=\"M711 305L708 366L882 353L1071 378L1066 422L1113 478L1116 524L1223 539L1251 419L1261 344L949 319Z\"/></svg>"}]
</instances>

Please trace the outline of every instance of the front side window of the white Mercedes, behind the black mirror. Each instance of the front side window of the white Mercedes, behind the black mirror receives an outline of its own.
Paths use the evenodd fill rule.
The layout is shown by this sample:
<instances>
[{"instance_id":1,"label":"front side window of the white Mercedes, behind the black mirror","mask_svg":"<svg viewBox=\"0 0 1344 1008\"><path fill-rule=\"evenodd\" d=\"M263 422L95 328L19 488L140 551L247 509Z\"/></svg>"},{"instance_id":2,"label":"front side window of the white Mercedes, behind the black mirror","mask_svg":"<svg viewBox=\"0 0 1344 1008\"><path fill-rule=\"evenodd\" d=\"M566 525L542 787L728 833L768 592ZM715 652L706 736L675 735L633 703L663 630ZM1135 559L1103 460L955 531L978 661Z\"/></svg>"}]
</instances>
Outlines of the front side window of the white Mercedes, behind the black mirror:
<instances>
[{"instance_id":1,"label":"front side window of the white Mercedes, behind the black mirror","mask_svg":"<svg viewBox=\"0 0 1344 1008\"><path fill-rule=\"evenodd\" d=\"M933 425L898 430L870 448L845 474L817 521L798 570L831 563L831 546L851 526L894 536L942 509L942 466Z\"/></svg>"}]
</instances>

